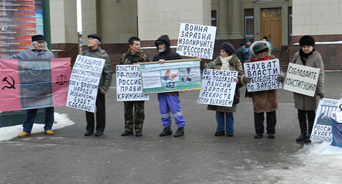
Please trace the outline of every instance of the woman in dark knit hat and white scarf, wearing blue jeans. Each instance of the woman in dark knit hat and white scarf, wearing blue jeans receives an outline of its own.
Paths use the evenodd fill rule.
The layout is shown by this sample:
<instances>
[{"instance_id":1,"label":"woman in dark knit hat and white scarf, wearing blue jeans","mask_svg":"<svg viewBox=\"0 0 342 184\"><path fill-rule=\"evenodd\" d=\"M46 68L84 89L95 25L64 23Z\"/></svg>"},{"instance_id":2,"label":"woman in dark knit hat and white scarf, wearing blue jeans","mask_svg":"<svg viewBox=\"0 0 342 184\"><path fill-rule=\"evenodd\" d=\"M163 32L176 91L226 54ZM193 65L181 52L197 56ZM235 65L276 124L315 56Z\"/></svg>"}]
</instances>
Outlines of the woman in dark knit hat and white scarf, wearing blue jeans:
<instances>
[{"instance_id":1,"label":"woman in dark knit hat and white scarf, wearing blue jeans","mask_svg":"<svg viewBox=\"0 0 342 184\"><path fill-rule=\"evenodd\" d=\"M244 75L244 70L242 70L241 62L235 55L235 49L233 44L229 42L224 42L221 45L220 56L216 57L215 60L207 64L207 62L201 62L203 68L210 68L216 70L230 70L239 72L237 82L237 87L235 88L235 93L239 95L239 88L242 87L241 77ZM216 111L216 121L218 122L218 127L216 128L215 136L226 135L228 137L233 136L234 132L234 118L233 112L237 109L236 102L233 102L232 107L218 106L218 105L208 105L207 107L210 111ZM226 127L224 127L226 124Z\"/></svg>"}]
</instances>

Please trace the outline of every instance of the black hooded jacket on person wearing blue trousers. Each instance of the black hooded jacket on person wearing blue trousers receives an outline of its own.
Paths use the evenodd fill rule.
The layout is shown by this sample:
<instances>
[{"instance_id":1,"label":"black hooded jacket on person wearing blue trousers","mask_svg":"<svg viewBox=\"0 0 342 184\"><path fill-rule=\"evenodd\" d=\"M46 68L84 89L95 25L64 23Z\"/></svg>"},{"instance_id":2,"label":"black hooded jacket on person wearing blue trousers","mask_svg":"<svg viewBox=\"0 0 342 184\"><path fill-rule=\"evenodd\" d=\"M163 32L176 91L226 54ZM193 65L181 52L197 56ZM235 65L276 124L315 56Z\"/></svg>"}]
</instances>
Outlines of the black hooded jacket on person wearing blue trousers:
<instances>
[{"instance_id":1,"label":"black hooded jacket on person wearing blue trousers","mask_svg":"<svg viewBox=\"0 0 342 184\"><path fill-rule=\"evenodd\" d=\"M178 53L174 53L170 49L170 39L167 35L162 35L158 38L158 40L155 40L155 47L158 49L158 42L163 42L166 46L165 51L155 55L153 57L153 62L157 62L159 60L181 60L182 57ZM171 94L176 95L179 94L179 92L164 92L159 94Z\"/></svg>"}]
</instances>

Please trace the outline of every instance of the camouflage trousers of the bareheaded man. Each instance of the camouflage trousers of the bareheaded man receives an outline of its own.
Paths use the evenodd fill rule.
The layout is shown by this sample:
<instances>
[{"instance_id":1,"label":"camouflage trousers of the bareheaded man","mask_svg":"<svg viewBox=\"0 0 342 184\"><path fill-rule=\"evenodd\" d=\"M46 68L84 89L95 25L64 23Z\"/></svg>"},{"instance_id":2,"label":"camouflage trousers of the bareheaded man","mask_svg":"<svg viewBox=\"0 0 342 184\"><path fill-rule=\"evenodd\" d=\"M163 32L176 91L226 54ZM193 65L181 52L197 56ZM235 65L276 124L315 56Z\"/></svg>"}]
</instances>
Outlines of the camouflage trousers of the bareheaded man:
<instances>
[{"instance_id":1,"label":"camouflage trousers of the bareheaded man","mask_svg":"<svg viewBox=\"0 0 342 184\"><path fill-rule=\"evenodd\" d=\"M145 101L126 101L124 102L124 130L125 131L142 131L144 124L144 103ZM134 108L134 114L133 114Z\"/></svg>"}]
</instances>

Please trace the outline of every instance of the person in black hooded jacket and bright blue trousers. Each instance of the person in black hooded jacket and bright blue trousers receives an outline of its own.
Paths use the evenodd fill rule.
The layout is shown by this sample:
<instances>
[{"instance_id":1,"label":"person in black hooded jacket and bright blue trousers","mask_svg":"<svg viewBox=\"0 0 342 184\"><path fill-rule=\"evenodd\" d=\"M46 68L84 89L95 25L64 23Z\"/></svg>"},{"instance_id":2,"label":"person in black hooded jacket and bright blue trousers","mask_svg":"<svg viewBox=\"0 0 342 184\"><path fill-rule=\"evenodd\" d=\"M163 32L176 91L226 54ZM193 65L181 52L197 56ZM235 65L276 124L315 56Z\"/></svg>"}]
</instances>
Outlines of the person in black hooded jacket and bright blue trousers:
<instances>
[{"instance_id":1,"label":"person in black hooded jacket and bright blue trousers","mask_svg":"<svg viewBox=\"0 0 342 184\"><path fill-rule=\"evenodd\" d=\"M181 60L182 57L178 53L174 53L170 49L170 39L167 35L162 35L155 41L155 47L157 47L159 54L153 57L154 62L160 62L161 64L166 60ZM184 92L184 91L181 91ZM159 110L161 114L161 122L163 122L163 131L159 136L171 135L171 114L177 124L177 131L174 133L174 137L180 137L184 135L185 120L180 107L179 92L165 92L158 94Z\"/></svg>"}]
</instances>

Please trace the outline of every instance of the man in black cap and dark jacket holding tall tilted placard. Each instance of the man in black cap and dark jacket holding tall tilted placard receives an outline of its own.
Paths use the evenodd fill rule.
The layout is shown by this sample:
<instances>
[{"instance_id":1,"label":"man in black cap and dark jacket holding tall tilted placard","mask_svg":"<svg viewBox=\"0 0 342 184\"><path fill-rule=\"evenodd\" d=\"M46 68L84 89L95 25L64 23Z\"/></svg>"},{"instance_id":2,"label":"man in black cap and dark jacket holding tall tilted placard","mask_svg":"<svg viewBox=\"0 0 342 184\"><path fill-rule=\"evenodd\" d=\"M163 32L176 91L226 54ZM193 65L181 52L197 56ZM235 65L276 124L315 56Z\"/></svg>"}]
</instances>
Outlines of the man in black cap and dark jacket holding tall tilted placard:
<instances>
[{"instance_id":1,"label":"man in black cap and dark jacket holding tall tilted placard","mask_svg":"<svg viewBox=\"0 0 342 184\"><path fill-rule=\"evenodd\" d=\"M95 136L103 135L105 131L106 124L106 112L105 112L105 92L109 90L111 83L111 77L113 75L113 70L111 70L111 62L107 52L100 47L101 36L98 34L88 35L88 49L83 51L81 55L86 55L89 57L97 57L105 59L105 66L103 67L102 76L100 83L98 84L98 93L96 96L96 133ZM95 118L94 113L86 111L87 127L86 133L84 135L89 136L94 133L95 129Z\"/></svg>"}]
</instances>

